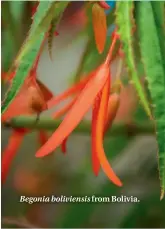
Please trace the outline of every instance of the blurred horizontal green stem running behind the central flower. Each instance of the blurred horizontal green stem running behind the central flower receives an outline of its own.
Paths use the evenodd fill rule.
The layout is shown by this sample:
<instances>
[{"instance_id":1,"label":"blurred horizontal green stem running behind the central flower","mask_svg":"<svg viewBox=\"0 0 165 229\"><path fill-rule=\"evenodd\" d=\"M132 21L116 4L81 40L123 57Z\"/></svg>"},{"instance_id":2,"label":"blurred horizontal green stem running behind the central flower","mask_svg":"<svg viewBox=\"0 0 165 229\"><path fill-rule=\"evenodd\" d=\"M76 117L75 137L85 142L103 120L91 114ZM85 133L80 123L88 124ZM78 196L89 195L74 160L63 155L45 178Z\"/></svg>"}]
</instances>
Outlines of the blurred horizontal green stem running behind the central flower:
<instances>
[{"instance_id":1,"label":"blurred horizontal green stem running behind the central flower","mask_svg":"<svg viewBox=\"0 0 165 229\"><path fill-rule=\"evenodd\" d=\"M12 128L29 128L33 130L45 129L54 131L60 125L60 119L52 119L42 117L36 122L36 116L20 116L13 118L10 121L4 123L5 127ZM77 128L74 130L74 133L81 134L90 134L91 122L82 121ZM137 135L137 134L154 134L154 125L152 122L136 122L133 124L118 123L114 124L111 129L107 130L106 136L114 135Z\"/></svg>"}]
</instances>

